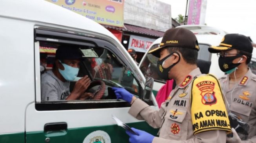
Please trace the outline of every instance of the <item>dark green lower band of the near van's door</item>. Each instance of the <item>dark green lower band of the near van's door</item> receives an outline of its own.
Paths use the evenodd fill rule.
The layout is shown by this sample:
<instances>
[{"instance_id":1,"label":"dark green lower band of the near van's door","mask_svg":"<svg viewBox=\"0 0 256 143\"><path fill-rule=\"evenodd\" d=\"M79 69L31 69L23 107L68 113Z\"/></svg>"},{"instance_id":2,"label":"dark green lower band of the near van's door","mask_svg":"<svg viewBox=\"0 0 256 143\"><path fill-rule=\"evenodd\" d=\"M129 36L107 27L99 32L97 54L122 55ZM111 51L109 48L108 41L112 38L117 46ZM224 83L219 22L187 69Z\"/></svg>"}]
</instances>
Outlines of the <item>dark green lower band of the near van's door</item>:
<instances>
[{"instance_id":1,"label":"dark green lower band of the near van's door","mask_svg":"<svg viewBox=\"0 0 256 143\"><path fill-rule=\"evenodd\" d=\"M154 136L159 130L153 129L146 122L127 123L127 125L145 130ZM45 143L47 137L50 138L50 143L83 143L85 137L96 130L107 132L111 138L111 143L129 143L129 136L122 127L117 125L72 128L63 132L27 132L27 143Z\"/></svg>"}]
</instances>

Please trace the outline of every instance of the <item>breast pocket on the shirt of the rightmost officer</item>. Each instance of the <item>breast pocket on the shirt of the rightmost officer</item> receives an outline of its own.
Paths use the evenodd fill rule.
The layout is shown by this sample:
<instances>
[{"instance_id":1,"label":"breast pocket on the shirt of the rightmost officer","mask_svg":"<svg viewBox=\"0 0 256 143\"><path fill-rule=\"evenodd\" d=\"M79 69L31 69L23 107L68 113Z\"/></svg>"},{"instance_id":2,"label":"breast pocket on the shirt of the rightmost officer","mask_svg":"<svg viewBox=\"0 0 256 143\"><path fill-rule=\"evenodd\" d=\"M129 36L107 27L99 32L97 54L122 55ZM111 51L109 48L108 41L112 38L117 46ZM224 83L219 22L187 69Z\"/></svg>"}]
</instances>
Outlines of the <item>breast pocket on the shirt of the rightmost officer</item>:
<instances>
[{"instance_id":1,"label":"breast pocket on the shirt of the rightmost officer","mask_svg":"<svg viewBox=\"0 0 256 143\"><path fill-rule=\"evenodd\" d=\"M248 122L252 108L243 104L232 102L230 111L240 117L243 122Z\"/></svg>"}]
</instances>

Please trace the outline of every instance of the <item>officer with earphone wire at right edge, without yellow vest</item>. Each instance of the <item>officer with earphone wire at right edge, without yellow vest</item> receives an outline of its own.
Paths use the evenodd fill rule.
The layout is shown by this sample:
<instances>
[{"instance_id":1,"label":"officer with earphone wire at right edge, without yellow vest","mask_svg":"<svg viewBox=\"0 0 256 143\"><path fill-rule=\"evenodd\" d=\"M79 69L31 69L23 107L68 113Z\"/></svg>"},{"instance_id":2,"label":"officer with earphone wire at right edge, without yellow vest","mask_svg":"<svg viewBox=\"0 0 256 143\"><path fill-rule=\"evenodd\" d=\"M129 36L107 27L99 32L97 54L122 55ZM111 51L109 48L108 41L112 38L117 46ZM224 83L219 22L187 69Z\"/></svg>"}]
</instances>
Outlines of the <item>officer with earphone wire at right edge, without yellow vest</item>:
<instances>
[{"instance_id":1,"label":"officer with earphone wire at right edge, without yellow vest","mask_svg":"<svg viewBox=\"0 0 256 143\"><path fill-rule=\"evenodd\" d=\"M229 110L250 127L247 139L239 138L232 129L233 138L227 138L230 143L256 143L256 75L248 67L252 49L249 38L241 34L227 34L219 46L208 49L218 53L220 69L226 73L220 78L220 84Z\"/></svg>"}]
</instances>

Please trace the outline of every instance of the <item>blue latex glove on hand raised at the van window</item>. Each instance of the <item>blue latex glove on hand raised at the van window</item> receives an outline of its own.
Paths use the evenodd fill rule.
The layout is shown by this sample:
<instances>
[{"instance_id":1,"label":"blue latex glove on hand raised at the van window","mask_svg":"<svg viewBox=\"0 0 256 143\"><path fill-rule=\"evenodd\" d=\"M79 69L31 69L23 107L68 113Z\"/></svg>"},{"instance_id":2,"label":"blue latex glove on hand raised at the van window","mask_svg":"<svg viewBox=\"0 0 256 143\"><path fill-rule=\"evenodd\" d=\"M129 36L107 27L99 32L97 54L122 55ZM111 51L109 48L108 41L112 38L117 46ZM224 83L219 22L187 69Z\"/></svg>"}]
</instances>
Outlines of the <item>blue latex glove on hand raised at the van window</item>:
<instances>
[{"instance_id":1,"label":"blue latex glove on hand raised at the van window","mask_svg":"<svg viewBox=\"0 0 256 143\"><path fill-rule=\"evenodd\" d=\"M127 90L124 88L112 88L114 90L114 93L116 93L116 98L117 99L123 99L126 102L131 103L133 99L133 95L129 93Z\"/></svg>"}]
</instances>

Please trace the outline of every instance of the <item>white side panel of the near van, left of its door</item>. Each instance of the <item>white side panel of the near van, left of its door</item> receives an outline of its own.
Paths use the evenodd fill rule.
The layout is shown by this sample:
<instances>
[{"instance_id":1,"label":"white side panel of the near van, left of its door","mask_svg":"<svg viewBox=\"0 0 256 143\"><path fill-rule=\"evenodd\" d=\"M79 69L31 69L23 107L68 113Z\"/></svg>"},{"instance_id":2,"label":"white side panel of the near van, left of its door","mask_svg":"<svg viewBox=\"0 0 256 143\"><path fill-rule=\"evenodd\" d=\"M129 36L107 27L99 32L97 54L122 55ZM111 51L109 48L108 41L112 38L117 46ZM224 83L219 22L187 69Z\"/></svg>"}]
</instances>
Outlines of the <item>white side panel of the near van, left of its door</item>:
<instances>
[{"instance_id":1,"label":"white side panel of the near van, left of its door","mask_svg":"<svg viewBox=\"0 0 256 143\"><path fill-rule=\"evenodd\" d=\"M0 21L0 134L24 132L25 109L35 99L33 23Z\"/></svg>"}]
</instances>

